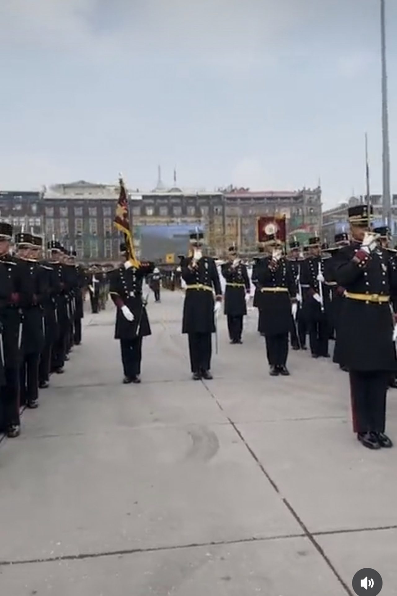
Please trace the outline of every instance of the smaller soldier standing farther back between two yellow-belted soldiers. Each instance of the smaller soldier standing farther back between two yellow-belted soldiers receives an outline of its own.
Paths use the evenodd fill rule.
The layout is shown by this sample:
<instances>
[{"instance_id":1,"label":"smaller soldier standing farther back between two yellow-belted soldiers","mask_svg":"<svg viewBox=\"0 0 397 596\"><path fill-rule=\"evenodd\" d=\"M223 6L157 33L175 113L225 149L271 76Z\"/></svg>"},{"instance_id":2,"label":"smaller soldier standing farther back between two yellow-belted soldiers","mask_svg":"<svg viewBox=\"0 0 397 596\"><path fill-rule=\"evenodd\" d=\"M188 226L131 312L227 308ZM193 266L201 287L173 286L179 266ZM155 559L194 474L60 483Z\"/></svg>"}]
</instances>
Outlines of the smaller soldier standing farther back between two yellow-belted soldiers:
<instances>
[{"instance_id":1,"label":"smaller soldier standing farther back between two yellow-belted soldiers","mask_svg":"<svg viewBox=\"0 0 397 596\"><path fill-rule=\"evenodd\" d=\"M246 301L250 296L251 284L235 244L229 247L229 262L221 266L221 272L226 280L224 313L227 315L230 343L243 343L243 316L247 313Z\"/></svg>"}]
</instances>

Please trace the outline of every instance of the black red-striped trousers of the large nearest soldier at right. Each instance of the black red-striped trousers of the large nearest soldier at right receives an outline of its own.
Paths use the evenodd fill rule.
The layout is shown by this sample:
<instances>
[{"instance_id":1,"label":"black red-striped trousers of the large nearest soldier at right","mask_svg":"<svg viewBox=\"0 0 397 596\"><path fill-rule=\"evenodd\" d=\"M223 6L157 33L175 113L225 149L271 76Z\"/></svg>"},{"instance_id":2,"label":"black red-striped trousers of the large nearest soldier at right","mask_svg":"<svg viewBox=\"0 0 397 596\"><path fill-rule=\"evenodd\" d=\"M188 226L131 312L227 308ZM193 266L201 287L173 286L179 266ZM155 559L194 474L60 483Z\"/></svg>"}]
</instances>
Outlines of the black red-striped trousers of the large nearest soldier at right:
<instances>
[{"instance_id":1,"label":"black red-striped trousers of the large nearest soldier at right","mask_svg":"<svg viewBox=\"0 0 397 596\"><path fill-rule=\"evenodd\" d=\"M385 432L390 373L349 371L349 377L354 432Z\"/></svg>"}]
</instances>

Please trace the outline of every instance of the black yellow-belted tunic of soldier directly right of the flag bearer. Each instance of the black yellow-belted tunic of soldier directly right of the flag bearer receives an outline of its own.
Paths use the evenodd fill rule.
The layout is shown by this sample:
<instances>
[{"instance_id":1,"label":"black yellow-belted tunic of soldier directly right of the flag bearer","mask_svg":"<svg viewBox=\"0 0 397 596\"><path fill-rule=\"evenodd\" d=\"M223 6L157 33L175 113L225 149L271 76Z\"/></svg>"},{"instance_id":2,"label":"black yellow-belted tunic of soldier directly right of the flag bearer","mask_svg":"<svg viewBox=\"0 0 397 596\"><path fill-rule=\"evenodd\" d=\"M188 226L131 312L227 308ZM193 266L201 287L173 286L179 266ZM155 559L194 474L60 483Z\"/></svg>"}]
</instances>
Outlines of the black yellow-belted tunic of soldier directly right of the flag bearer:
<instances>
[{"instance_id":1,"label":"black yellow-belted tunic of soldier directly right of the flag bearer","mask_svg":"<svg viewBox=\"0 0 397 596\"><path fill-rule=\"evenodd\" d=\"M221 296L217 266L211 257L201 257L196 268L190 268L192 257L182 265L182 277L186 283L183 305L182 333L215 333L214 293ZM189 288L201 285L205 288Z\"/></svg>"}]
</instances>

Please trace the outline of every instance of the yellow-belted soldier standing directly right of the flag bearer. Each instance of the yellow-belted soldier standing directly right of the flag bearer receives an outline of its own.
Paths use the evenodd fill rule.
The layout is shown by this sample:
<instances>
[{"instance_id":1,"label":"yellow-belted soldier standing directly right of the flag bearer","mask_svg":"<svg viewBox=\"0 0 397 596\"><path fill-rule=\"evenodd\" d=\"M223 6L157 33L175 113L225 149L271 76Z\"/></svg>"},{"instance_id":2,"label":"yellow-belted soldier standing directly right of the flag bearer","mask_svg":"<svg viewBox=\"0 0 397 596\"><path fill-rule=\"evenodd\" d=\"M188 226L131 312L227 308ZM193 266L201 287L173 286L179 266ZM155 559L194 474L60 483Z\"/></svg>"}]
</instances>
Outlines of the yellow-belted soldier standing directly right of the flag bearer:
<instances>
[{"instance_id":1,"label":"yellow-belted soldier standing directly right of the flag bearer","mask_svg":"<svg viewBox=\"0 0 397 596\"><path fill-rule=\"evenodd\" d=\"M203 256L204 234L190 234L193 256L182 264L186 283L182 333L189 336L190 368L193 379L211 379L211 334L215 333L215 311L222 301L222 290L214 259ZM215 292L215 303L214 303Z\"/></svg>"}]
</instances>

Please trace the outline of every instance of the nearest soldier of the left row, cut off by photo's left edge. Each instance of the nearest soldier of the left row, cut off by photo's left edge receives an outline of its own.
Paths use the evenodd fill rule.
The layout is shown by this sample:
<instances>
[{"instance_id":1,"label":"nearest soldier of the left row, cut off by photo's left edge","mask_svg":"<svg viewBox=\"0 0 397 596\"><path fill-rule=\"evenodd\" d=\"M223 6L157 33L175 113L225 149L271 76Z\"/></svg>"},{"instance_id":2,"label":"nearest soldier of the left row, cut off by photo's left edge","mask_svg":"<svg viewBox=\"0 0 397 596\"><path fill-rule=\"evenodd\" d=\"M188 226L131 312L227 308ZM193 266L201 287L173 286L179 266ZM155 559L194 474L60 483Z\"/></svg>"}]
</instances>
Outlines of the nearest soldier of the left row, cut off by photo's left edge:
<instances>
[{"instance_id":1,"label":"nearest soldier of the left row, cut off by photo's left edge","mask_svg":"<svg viewBox=\"0 0 397 596\"><path fill-rule=\"evenodd\" d=\"M0 222L0 327L4 383L0 388L1 427L9 437L20 434L19 367L22 339L20 302L24 280L19 260L8 253L12 226Z\"/></svg>"}]
</instances>

